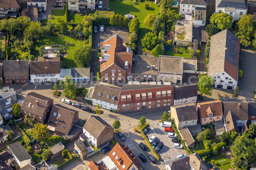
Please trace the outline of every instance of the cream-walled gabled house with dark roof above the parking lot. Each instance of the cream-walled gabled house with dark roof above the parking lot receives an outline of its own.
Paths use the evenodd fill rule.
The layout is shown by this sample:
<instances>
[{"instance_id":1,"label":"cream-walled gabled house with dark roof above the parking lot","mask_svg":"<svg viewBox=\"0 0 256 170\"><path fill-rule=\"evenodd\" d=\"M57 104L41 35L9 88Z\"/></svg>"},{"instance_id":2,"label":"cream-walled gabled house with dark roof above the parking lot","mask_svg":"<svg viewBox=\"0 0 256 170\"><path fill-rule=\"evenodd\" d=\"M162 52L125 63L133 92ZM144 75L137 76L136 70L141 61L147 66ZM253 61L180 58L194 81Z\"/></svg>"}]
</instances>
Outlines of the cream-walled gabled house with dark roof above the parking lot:
<instances>
[{"instance_id":1,"label":"cream-walled gabled house with dark roof above the parking lot","mask_svg":"<svg viewBox=\"0 0 256 170\"><path fill-rule=\"evenodd\" d=\"M178 129L197 124L196 103L171 106L170 113Z\"/></svg>"}]
</instances>

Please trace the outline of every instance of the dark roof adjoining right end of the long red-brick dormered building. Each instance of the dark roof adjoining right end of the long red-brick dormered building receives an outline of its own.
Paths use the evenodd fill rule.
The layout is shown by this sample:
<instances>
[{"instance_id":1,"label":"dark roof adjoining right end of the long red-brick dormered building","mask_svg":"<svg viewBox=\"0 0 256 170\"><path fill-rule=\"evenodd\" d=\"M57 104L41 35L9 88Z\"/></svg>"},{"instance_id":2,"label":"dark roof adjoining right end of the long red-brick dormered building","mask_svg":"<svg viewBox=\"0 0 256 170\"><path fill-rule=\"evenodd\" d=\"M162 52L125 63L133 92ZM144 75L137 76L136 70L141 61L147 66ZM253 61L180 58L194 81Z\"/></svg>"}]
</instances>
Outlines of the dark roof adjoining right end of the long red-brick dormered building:
<instances>
[{"instance_id":1,"label":"dark roof adjoining right end of the long red-brick dormered building","mask_svg":"<svg viewBox=\"0 0 256 170\"><path fill-rule=\"evenodd\" d=\"M197 96L197 84L173 88L173 100Z\"/></svg>"}]
</instances>

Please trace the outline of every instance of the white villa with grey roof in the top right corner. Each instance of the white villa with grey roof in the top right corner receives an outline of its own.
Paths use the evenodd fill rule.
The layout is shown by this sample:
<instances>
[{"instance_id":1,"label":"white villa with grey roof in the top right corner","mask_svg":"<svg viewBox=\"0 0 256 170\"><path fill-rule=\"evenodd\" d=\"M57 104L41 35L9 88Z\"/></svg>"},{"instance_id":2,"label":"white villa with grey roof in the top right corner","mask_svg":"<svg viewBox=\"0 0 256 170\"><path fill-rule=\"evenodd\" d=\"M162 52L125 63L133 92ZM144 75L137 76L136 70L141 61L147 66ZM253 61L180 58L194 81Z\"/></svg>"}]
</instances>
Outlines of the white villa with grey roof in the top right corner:
<instances>
[{"instance_id":1,"label":"white villa with grey roof in the top right corner","mask_svg":"<svg viewBox=\"0 0 256 170\"><path fill-rule=\"evenodd\" d=\"M247 14L248 1L247 0L216 0L216 13L227 13L232 16L233 21L239 20L242 15Z\"/></svg>"}]
</instances>

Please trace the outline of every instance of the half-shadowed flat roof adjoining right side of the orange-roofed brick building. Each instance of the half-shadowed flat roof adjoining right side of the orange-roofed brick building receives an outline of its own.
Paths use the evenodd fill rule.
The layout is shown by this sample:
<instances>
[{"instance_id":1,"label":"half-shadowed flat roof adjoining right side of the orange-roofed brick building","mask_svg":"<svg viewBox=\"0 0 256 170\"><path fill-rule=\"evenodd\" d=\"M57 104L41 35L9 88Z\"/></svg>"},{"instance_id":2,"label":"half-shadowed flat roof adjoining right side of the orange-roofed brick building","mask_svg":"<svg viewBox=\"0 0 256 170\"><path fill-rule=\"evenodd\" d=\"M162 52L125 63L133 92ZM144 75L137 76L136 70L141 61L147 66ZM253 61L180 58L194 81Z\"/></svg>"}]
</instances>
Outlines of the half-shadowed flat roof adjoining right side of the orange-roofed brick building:
<instances>
[{"instance_id":1,"label":"half-shadowed flat roof adjoining right side of the orange-roofed brick building","mask_svg":"<svg viewBox=\"0 0 256 170\"><path fill-rule=\"evenodd\" d=\"M132 64L132 74L157 74L158 57L133 56L133 58L135 61Z\"/></svg>"}]
</instances>

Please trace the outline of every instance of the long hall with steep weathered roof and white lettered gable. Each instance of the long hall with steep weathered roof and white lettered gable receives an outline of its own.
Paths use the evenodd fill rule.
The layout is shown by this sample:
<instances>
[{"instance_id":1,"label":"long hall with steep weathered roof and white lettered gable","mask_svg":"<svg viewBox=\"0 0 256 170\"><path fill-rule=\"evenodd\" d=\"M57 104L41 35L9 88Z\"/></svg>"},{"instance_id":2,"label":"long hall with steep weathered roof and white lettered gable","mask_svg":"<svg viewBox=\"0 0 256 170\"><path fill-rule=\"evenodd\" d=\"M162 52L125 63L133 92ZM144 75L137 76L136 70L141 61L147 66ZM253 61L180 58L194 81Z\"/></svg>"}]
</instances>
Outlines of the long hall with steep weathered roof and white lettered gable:
<instances>
[{"instance_id":1,"label":"long hall with steep weathered roof and white lettered gable","mask_svg":"<svg viewBox=\"0 0 256 170\"><path fill-rule=\"evenodd\" d=\"M228 29L211 36L208 76L215 81L215 88L237 87L239 39Z\"/></svg>"}]
</instances>

